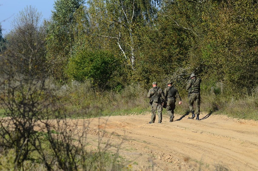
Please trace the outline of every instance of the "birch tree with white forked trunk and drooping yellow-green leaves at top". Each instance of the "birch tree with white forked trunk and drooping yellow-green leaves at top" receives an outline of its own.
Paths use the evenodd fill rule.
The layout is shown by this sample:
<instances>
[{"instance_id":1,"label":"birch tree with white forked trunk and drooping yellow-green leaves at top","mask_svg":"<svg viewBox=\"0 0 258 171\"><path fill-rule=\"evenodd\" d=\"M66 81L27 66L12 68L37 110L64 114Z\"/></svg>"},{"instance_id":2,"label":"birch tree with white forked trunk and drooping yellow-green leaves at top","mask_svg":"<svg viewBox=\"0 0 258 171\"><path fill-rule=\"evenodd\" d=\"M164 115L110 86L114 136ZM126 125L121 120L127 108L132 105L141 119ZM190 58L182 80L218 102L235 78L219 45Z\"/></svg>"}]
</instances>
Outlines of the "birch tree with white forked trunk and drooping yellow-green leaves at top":
<instances>
[{"instance_id":1,"label":"birch tree with white forked trunk and drooping yellow-green leaves at top","mask_svg":"<svg viewBox=\"0 0 258 171\"><path fill-rule=\"evenodd\" d=\"M158 0L89 0L91 26L98 36L114 39L135 70L137 28L153 21Z\"/></svg>"}]
</instances>

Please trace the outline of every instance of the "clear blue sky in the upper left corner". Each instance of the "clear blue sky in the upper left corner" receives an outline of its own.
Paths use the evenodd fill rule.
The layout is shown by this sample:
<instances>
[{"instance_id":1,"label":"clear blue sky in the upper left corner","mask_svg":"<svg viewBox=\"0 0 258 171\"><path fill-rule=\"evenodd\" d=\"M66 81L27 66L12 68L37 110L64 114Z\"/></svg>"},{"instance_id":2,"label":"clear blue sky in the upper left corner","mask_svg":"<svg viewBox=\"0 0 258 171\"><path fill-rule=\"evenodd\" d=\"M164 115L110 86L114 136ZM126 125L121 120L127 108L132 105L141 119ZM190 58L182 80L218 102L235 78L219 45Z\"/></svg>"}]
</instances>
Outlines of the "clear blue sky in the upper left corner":
<instances>
[{"instance_id":1,"label":"clear blue sky in the upper left corner","mask_svg":"<svg viewBox=\"0 0 258 171\"><path fill-rule=\"evenodd\" d=\"M31 5L38 12L41 12L41 21L43 21L44 18L50 18L54 3L55 0L0 0L0 23L3 36L10 32L14 17L19 14L19 11L24 10L27 5Z\"/></svg>"}]
</instances>

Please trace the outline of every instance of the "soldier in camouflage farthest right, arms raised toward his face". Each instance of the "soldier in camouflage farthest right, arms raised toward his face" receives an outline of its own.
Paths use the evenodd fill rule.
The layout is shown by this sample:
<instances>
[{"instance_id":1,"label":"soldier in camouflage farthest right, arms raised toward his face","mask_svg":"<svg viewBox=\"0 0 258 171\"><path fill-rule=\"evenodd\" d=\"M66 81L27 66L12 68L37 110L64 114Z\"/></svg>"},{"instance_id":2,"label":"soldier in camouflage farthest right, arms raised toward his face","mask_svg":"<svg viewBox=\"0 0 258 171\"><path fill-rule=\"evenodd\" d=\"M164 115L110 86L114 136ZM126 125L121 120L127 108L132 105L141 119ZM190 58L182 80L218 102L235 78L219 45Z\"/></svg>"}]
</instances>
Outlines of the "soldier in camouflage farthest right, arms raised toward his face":
<instances>
[{"instance_id":1,"label":"soldier in camouflage farthest right, arms raised toward his face","mask_svg":"<svg viewBox=\"0 0 258 171\"><path fill-rule=\"evenodd\" d=\"M191 74L190 80L187 83L186 89L188 90L188 100L189 100L189 109L192 113L192 117L188 119L193 119L195 117L194 110L193 110L193 103L195 101L196 107L196 120L199 120L200 115L200 102L201 102L201 95L200 95L200 84L201 79L197 78L195 74Z\"/></svg>"}]
</instances>

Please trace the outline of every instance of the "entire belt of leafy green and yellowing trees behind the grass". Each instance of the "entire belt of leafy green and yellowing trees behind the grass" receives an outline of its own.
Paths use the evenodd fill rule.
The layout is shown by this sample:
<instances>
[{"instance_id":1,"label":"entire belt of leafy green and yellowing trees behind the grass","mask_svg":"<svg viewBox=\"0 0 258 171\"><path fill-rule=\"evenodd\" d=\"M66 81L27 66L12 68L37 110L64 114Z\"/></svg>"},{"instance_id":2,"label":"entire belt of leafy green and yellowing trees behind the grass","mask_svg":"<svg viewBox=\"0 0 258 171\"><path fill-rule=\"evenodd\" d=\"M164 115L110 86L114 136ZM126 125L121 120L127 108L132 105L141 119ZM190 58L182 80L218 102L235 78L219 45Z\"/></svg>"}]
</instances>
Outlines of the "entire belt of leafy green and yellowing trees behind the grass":
<instances>
[{"instance_id":1,"label":"entire belt of leafy green and yellowing trees behind the grass","mask_svg":"<svg viewBox=\"0 0 258 171\"><path fill-rule=\"evenodd\" d=\"M76 68L74 61L79 54L87 52L83 60L90 61L95 52L105 51L114 55L115 66L120 68L119 72L111 69L116 73L116 77L108 77L113 79L111 82L135 82L148 87L154 80L162 83L174 77L175 72L185 71L195 72L210 84L223 82L232 90L250 91L257 86L256 1L89 0L85 3L56 0L51 19L44 22L47 37L44 62L59 81L77 77L67 71ZM1 39L4 40L2 35ZM98 70L102 71L101 68ZM86 70L80 72L85 77L89 75ZM83 81L84 76L79 80ZM175 81L184 87L179 80L183 76L187 79L187 74L181 76ZM104 73L102 77L106 77Z\"/></svg>"}]
</instances>

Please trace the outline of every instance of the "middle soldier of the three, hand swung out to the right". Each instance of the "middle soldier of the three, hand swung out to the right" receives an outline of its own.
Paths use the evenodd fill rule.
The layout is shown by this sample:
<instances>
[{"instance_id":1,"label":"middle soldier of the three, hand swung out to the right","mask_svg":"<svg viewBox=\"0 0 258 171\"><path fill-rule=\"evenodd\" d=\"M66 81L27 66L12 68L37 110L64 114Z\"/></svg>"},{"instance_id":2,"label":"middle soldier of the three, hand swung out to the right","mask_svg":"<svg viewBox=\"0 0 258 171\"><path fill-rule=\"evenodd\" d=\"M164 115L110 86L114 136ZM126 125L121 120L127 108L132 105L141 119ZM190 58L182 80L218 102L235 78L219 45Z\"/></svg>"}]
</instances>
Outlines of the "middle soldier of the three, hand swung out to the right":
<instances>
[{"instance_id":1,"label":"middle soldier of the three, hand swung out to the right","mask_svg":"<svg viewBox=\"0 0 258 171\"><path fill-rule=\"evenodd\" d=\"M172 82L167 82L167 88L164 90L165 97L167 99L167 114L169 115L169 122L173 122L174 120L174 109L176 107L176 98L178 97L180 99L179 105L182 104L182 99L178 94L177 89L172 86Z\"/></svg>"}]
</instances>

